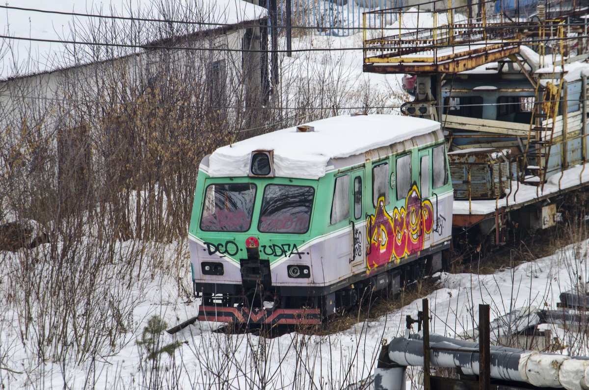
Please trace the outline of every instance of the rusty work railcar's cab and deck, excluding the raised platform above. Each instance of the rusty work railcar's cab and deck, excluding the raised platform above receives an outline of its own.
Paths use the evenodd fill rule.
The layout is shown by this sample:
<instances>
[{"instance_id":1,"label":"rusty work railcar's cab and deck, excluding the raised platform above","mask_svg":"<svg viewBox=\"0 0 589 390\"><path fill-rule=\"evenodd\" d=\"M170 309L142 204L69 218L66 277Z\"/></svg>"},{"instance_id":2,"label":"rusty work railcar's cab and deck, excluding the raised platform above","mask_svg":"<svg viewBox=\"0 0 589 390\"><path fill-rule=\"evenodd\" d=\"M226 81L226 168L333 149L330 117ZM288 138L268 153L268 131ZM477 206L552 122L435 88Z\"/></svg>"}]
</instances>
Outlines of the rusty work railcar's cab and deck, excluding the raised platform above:
<instances>
[{"instance_id":1,"label":"rusty work railcar's cab and deck, excluding the raised platform above","mask_svg":"<svg viewBox=\"0 0 589 390\"><path fill-rule=\"evenodd\" d=\"M518 54L452 75L440 118L454 181L456 237L501 244L545 229L589 183L589 64ZM468 237L468 238L467 238Z\"/></svg>"}]
</instances>

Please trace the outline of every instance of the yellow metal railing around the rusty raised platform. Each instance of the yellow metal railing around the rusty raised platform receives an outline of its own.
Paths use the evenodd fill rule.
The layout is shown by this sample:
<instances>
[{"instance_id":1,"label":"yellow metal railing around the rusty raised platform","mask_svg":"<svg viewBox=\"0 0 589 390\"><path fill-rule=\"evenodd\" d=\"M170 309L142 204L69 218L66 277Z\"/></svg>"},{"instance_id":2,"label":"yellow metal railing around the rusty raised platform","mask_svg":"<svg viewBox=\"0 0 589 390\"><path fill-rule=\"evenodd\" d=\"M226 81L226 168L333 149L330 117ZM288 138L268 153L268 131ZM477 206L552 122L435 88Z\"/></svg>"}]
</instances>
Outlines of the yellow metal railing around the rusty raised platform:
<instances>
[{"instance_id":1,"label":"yellow metal railing around the rusty raised platform","mask_svg":"<svg viewBox=\"0 0 589 390\"><path fill-rule=\"evenodd\" d=\"M491 3L487 7L487 3ZM391 8L363 14L363 57L365 64L448 61L453 56L468 55L469 51L489 47L517 47L524 42L545 42L554 39L554 21L542 23L510 19L505 12L491 15L495 0L478 3L477 15L467 6L451 7L443 12L428 11L441 1L421 4L415 9ZM471 5L472 7L472 5ZM464 16L464 15L468 15ZM380 19L378 26L370 21ZM385 21L396 18L386 25ZM421 18L421 21L420 21ZM415 21L416 20L416 21ZM378 23L376 23L378 24ZM380 37L372 34L380 33ZM541 53L542 54L542 53Z\"/></svg>"}]
</instances>

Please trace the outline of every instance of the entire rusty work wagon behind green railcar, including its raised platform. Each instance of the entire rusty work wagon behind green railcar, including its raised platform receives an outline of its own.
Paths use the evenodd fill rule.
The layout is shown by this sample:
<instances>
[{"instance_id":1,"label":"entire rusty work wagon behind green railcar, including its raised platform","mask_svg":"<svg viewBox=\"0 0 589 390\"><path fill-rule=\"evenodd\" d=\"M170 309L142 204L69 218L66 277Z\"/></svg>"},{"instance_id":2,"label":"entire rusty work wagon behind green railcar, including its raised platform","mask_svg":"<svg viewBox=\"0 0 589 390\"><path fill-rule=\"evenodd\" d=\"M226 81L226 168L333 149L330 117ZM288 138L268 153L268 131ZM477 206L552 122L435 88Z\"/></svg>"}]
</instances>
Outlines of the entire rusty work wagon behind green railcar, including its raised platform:
<instances>
[{"instance_id":1,"label":"entire rusty work wagon behind green railcar, including its raised platform","mask_svg":"<svg viewBox=\"0 0 589 390\"><path fill-rule=\"evenodd\" d=\"M533 22L487 6L369 12L398 23L365 30L363 65L416 75L401 112L441 123L454 244L478 249L554 226L589 183L589 1L538 2Z\"/></svg>"}]
</instances>

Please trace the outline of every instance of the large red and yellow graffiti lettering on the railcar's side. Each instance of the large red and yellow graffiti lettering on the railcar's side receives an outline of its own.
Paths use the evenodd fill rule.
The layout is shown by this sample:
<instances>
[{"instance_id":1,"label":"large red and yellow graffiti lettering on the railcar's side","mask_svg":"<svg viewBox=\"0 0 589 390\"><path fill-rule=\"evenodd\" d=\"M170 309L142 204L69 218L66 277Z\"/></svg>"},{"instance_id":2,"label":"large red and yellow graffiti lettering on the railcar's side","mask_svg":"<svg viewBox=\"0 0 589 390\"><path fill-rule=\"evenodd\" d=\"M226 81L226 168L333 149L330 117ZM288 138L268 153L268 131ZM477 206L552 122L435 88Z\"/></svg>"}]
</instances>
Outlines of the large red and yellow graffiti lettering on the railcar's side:
<instances>
[{"instance_id":1,"label":"large red and yellow graffiti lettering on the railcar's side","mask_svg":"<svg viewBox=\"0 0 589 390\"><path fill-rule=\"evenodd\" d=\"M391 214L385 210L385 199L378 200L376 213L368 217L368 268L378 267L423 249L426 234L434 226L434 207L421 199L415 184L405 199L405 206Z\"/></svg>"}]
</instances>

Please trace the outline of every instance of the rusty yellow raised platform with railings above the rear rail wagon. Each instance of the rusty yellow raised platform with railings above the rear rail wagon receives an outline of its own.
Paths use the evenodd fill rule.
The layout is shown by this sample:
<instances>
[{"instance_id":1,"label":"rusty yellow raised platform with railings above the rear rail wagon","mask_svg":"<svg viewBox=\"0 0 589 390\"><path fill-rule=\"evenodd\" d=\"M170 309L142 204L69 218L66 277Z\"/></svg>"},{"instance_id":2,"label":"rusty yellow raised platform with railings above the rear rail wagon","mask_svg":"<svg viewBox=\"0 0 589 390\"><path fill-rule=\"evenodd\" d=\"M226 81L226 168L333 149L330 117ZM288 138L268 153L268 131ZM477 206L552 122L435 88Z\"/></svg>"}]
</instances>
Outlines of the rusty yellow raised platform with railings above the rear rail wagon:
<instances>
[{"instance_id":1,"label":"rusty yellow raised platform with railings above the rear rail wagon","mask_svg":"<svg viewBox=\"0 0 589 390\"><path fill-rule=\"evenodd\" d=\"M563 0L558 1L562 4ZM449 6L444 11L434 10L430 19L432 23L427 23L432 25L423 23L422 16L423 26L419 25L419 14L427 11L421 7L435 8L434 5L439 6L441 1L420 4L416 11L391 8L366 12L363 15L363 71L382 74L452 74L517 54L519 46L527 42L533 44L546 39L559 39L550 35L550 29L546 29L547 21L514 21L504 12L488 15L486 5L494 2L479 1L475 18L470 17L472 6ZM587 0L574 0L567 6L561 5L558 12L554 11L553 6L552 13L547 12L547 15L562 20L584 14L589 9L587 3ZM395 25L375 28L378 21L383 24L382 21L395 19L390 14L396 14ZM460 16L462 14L468 17ZM415 27L403 25L403 21L411 22L408 15L416 15L412 21L416 19ZM375 32L377 35L380 32L380 36L370 37Z\"/></svg>"}]
</instances>

